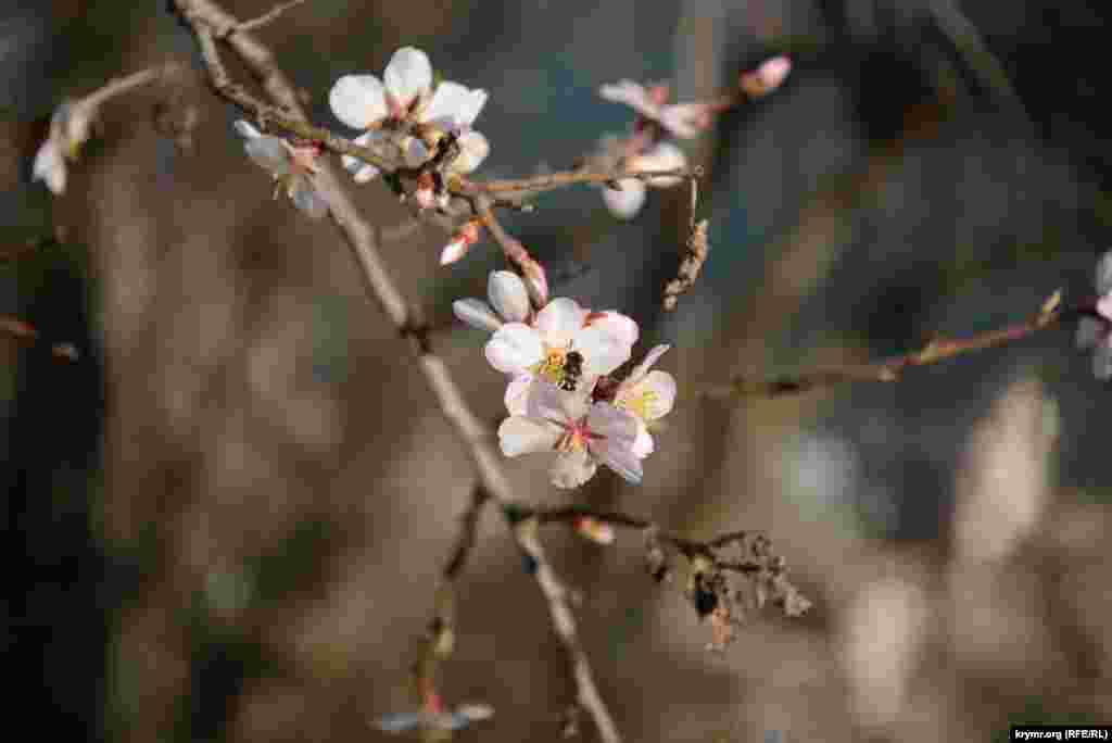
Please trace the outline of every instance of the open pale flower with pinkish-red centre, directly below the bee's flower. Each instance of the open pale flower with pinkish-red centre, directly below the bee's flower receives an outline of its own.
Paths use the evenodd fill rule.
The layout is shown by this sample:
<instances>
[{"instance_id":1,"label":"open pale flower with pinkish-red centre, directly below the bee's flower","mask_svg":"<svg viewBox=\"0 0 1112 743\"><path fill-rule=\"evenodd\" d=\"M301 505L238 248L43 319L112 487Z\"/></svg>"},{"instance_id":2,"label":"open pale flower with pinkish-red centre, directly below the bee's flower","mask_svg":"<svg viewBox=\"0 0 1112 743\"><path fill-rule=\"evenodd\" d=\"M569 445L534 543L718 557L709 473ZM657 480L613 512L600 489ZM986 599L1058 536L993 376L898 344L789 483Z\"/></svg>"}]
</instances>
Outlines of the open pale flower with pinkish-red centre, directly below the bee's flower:
<instances>
[{"instance_id":1,"label":"open pale flower with pinkish-red centre, directly below the bee's flower","mask_svg":"<svg viewBox=\"0 0 1112 743\"><path fill-rule=\"evenodd\" d=\"M549 470L557 487L578 487L604 464L631 483L642 479L641 458L634 454L637 420L608 403L589 403L586 395L564 392L547 383L534 384L526 415L506 418L498 442L508 457L553 452Z\"/></svg>"}]
</instances>

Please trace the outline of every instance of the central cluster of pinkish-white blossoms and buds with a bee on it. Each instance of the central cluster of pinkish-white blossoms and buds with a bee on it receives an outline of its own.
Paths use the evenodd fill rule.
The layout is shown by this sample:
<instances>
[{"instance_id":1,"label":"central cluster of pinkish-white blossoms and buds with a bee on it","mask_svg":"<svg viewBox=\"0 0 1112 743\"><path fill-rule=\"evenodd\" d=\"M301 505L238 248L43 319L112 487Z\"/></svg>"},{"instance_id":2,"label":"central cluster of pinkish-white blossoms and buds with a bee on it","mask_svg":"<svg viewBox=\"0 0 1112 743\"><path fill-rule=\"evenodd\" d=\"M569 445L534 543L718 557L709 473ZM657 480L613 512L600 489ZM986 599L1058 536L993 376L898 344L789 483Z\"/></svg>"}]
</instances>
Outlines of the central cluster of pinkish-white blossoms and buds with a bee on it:
<instances>
[{"instance_id":1,"label":"central cluster of pinkish-white blossoms and buds with a bee on it","mask_svg":"<svg viewBox=\"0 0 1112 743\"><path fill-rule=\"evenodd\" d=\"M592 311L564 297L534 313L525 284L495 271L489 303L460 299L463 321L493 331L485 348L490 365L509 377L509 417L498 427L506 456L552 453L557 487L577 487L604 464L631 483L642 479L642 459L655 445L649 425L666 415L676 383L652 370L667 346L656 346L624 379L612 374L629 360L637 324L613 310Z\"/></svg>"}]
</instances>

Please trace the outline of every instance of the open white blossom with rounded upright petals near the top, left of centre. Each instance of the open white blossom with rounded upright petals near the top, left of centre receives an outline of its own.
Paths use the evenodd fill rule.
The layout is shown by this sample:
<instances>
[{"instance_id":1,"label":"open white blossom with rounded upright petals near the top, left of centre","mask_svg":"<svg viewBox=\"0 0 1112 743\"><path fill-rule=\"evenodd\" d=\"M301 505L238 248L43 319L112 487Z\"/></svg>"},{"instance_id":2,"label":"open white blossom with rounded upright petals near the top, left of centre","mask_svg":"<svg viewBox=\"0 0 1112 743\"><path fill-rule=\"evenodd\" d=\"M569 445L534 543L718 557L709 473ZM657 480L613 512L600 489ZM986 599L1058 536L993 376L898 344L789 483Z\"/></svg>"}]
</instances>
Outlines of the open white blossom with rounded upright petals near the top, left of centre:
<instances>
[{"instance_id":1,"label":"open white blossom with rounded upright petals near the top, left of centre","mask_svg":"<svg viewBox=\"0 0 1112 743\"><path fill-rule=\"evenodd\" d=\"M328 96L340 121L365 133L357 145L379 150L411 168L424 165L444 137L453 137L457 155L446 164L454 172L470 172L486 159L490 145L470 127L487 101L487 92L445 80L433 88L428 56L414 47L394 52L383 79L374 75L346 75ZM355 180L366 182L378 168L345 156L344 167Z\"/></svg>"}]
</instances>

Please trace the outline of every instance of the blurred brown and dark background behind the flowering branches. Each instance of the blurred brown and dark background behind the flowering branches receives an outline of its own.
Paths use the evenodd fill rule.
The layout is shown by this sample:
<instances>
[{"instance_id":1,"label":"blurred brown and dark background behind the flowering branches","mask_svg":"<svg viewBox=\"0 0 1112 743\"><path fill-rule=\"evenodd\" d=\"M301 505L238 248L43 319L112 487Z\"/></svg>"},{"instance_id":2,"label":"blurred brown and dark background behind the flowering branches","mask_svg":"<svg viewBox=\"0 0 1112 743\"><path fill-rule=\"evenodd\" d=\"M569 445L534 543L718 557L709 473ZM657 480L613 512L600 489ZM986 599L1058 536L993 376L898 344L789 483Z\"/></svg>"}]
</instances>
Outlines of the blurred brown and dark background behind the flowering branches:
<instances>
[{"instance_id":1,"label":"blurred brown and dark background behind the flowering branches","mask_svg":"<svg viewBox=\"0 0 1112 743\"><path fill-rule=\"evenodd\" d=\"M473 475L347 248L271 200L236 111L196 73L109 103L62 197L30 182L60 100L171 59L200 69L165 4L0 10L0 314L81 353L0 344L10 709L66 740L385 739L370 723L414 706L409 665ZM272 3L222 4L249 18ZM1072 327L896 385L698 395L1090 291L1112 227L1108 14L1080 0L309 0L260 31L339 131L331 83L380 73L399 46L488 89L489 177L568 167L624 131L602 83L671 80L692 100L792 56L783 89L685 143L709 171L712 252L674 314L659 299L683 189L628 222L589 188L508 220L555 295L623 309L643 347L673 344L661 366L681 383L644 485L607 470L560 493L526 458L507 463L520 497L698 538L767 529L815 602L707 653L636 535L599 547L546 531L627 740L1002 741L1010 724L1112 721L1112 423ZM191 141L175 141L189 111ZM351 191L375 224L406 220L380 186ZM485 242L441 269L445 241L429 227L384 251L495 423L504 380L449 306L483 296L502 258ZM496 710L461 740L554 740L575 694L566 656L496 513L479 535L444 699Z\"/></svg>"}]
</instances>

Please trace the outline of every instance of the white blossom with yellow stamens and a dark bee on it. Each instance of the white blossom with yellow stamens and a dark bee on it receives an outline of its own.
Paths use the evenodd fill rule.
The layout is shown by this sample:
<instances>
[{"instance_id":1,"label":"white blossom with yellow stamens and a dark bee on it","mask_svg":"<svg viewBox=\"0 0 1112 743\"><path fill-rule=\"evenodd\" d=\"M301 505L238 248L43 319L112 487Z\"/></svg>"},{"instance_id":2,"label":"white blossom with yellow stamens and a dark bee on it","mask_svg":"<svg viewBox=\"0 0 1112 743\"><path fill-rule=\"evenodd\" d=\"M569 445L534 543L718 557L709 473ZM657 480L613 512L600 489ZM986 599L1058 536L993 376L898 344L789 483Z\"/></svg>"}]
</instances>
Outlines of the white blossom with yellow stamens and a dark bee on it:
<instances>
[{"instance_id":1,"label":"white blossom with yellow stamens and a dark bee on it","mask_svg":"<svg viewBox=\"0 0 1112 743\"><path fill-rule=\"evenodd\" d=\"M494 368L515 377L512 388L518 393L527 385L519 377L582 390L629 358L636 334L636 323L623 315L592 314L574 299L557 297L537 313L532 325L500 326L485 354ZM510 412L515 409L519 407L510 405Z\"/></svg>"}]
</instances>

